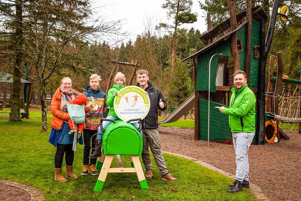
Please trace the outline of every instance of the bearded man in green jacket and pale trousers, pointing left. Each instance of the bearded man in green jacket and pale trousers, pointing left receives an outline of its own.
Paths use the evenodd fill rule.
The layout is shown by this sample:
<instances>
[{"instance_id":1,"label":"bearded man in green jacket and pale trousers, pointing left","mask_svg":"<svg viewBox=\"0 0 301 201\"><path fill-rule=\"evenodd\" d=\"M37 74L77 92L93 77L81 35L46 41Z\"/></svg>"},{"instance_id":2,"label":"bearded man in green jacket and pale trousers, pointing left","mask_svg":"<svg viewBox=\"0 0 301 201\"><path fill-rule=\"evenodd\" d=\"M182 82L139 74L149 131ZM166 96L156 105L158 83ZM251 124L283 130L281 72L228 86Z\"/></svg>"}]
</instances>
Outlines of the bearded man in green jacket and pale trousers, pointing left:
<instances>
[{"instance_id":1,"label":"bearded man in green jacket and pale trousers, pointing left","mask_svg":"<svg viewBox=\"0 0 301 201\"><path fill-rule=\"evenodd\" d=\"M215 107L223 114L229 115L229 126L233 136L236 154L235 182L230 184L229 193L236 193L242 187L249 187L248 150L255 135L256 98L247 85L246 73L237 70L234 74L234 88L229 108Z\"/></svg>"}]
</instances>

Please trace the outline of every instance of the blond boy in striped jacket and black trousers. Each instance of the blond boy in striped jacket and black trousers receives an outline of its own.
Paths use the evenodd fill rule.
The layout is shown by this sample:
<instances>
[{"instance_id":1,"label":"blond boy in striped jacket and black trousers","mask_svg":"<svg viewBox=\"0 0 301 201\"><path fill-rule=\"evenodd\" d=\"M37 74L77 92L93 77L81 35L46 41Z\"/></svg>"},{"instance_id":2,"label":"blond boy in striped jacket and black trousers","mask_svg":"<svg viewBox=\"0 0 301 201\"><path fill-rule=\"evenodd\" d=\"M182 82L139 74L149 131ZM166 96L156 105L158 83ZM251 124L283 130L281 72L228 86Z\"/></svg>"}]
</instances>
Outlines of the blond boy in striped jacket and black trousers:
<instances>
[{"instance_id":1,"label":"blond boy in striped jacket and black trousers","mask_svg":"<svg viewBox=\"0 0 301 201\"><path fill-rule=\"evenodd\" d=\"M86 122L84 128L84 158L83 158L83 170L81 175L88 175L90 172L92 175L98 175L98 172L95 168L96 158L89 159L91 146L90 146L90 138L97 133L98 126L100 125L100 119L103 117L103 114L106 112L106 93L101 91L100 84L100 76L97 74L93 74L90 76L90 86L87 87L84 95L88 97L94 98L94 103L98 105L98 109L96 111L92 110L92 107L85 107L86 111ZM87 104L89 101L87 100ZM98 144L96 140L96 135L93 137L92 142ZM92 151L93 152L93 151ZM89 163L90 162L90 163Z\"/></svg>"}]
</instances>

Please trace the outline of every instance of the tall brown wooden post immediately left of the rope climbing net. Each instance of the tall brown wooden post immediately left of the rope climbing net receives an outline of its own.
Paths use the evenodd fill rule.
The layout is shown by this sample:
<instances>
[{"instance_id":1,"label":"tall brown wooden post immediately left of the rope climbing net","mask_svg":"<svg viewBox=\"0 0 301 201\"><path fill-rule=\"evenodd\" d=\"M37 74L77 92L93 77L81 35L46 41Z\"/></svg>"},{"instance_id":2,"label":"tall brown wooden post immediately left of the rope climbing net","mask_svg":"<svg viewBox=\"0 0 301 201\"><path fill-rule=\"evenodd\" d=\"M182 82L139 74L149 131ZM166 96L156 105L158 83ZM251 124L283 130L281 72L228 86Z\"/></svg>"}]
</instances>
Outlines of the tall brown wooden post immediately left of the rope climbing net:
<instances>
[{"instance_id":1,"label":"tall brown wooden post immediately left of the rope climbing net","mask_svg":"<svg viewBox=\"0 0 301 201\"><path fill-rule=\"evenodd\" d=\"M273 101L273 107L275 108L274 113L275 115L279 115L278 107L279 107L279 93L281 90L281 84L282 84L282 75L283 75L283 60L282 60L282 52L277 52L277 78L276 78L276 84L275 84L275 91L274 91L274 101ZM277 121L277 138L278 142L280 142L280 136L279 136L279 126Z\"/></svg>"}]
</instances>

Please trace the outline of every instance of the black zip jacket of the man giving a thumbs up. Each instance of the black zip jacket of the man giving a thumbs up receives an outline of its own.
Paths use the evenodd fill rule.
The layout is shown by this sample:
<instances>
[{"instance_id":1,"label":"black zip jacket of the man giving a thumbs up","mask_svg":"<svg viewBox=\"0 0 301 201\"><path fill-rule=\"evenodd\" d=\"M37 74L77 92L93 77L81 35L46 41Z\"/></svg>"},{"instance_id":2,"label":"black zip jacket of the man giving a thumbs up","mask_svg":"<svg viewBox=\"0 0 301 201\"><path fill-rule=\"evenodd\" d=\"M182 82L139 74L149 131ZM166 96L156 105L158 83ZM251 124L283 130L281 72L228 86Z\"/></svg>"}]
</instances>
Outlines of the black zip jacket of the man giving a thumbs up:
<instances>
[{"instance_id":1,"label":"black zip jacket of the man giving a thumbs up","mask_svg":"<svg viewBox=\"0 0 301 201\"><path fill-rule=\"evenodd\" d=\"M147 116L142 119L142 128L158 128L158 109L164 111L167 109L166 101L161 94L160 89L154 87L151 82L147 82L148 87L144 90L148 93L151 101L151 108ZM137 84L140 87L139 83ZM160 108L159 102L162 99L164 107Z\"/></svg>"}]
</instances>

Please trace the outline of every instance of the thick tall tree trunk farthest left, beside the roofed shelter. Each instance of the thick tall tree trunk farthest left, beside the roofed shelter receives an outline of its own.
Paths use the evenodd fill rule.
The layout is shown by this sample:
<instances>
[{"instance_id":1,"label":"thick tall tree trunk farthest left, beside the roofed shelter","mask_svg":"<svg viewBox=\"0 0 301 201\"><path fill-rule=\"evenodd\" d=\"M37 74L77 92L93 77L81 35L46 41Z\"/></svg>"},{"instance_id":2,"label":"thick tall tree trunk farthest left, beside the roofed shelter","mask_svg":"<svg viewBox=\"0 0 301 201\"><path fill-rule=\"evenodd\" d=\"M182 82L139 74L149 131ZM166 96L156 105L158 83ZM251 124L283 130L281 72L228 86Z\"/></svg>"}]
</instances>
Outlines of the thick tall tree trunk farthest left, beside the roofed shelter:
<instances>
[{"instance_id":1,"label":"thick tall tree trunk farthest left, beside the roofed shelter","mask_svg":"<svg viewBox=\"0 0 301 201\"><path fill-rule=\"evenodd\" d=\"M13 75L13 90L11 94L11 116L10 121L19 122L20 118L20 90L21 90L21 65L22 65L22 44L23 44L23 28L22 28L22 4L23 1L16 1L16 34L15 34L15 66Z\"/></svg>"}]
</instances>

